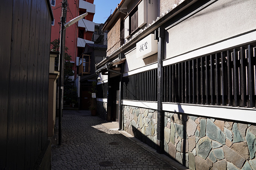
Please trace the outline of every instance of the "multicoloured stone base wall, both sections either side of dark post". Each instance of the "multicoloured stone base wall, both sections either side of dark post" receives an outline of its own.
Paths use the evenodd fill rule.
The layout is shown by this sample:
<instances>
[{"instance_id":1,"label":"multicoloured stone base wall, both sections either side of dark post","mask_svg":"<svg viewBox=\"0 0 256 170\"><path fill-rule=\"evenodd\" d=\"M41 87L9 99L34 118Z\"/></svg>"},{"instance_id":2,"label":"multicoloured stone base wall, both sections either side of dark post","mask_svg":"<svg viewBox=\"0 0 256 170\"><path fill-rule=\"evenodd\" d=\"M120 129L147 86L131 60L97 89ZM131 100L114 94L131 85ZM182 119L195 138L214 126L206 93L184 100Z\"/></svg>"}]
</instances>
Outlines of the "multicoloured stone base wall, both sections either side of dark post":
<instances>
[{"instance_id":1,"label":"multicoloured stone base wall, both sections either side of dark post","mask_svg":"<svg viewBox=\"0 0 256 170\"><path fill-rule=\"evenodd\" d=\"M157 111L123 107L124 130L156 148ZM165 153L191 170L256 170L256 126L165 112ZM184 158L184 159L183 159Z\"/></svg>"}]
</instances>

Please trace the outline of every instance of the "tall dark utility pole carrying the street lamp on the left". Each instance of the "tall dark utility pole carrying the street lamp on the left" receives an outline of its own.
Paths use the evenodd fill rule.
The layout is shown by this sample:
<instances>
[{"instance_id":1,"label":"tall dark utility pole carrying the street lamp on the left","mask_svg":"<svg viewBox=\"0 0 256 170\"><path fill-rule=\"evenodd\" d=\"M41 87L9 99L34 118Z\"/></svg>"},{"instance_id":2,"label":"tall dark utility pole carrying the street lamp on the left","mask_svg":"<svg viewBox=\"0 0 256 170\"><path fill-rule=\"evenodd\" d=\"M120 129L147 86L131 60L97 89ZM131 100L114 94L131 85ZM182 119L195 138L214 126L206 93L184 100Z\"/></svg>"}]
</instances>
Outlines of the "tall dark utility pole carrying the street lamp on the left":
<instances>
[{"instance_id":1,"label":"tall dark utility pole carrying the street lamp on the left","mask_svg":"<svg viewBox=\"0 0 256 170\"><path fill-rule=\"evenodd\" d=\"M66 29L64 24L66 23L67 17L67 0L62 0L62 13L61 13L61 40L60 40L60 51L59 51L59 145L61 145L62 136L62 109L63 109L63 91L64 91L64 62L65 62L65 35Z\"/></svg>"}]
</instances>

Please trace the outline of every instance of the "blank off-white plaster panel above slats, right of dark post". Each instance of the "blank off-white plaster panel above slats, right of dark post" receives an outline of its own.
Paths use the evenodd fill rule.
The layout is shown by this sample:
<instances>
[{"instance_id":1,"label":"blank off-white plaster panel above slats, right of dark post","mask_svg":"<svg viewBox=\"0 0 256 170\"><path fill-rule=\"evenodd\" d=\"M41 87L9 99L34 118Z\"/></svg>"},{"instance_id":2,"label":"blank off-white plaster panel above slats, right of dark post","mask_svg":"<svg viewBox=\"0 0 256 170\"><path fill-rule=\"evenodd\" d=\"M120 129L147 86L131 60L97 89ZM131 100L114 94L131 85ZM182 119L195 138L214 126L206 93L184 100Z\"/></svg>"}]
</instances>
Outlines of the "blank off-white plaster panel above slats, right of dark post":
<instances>
[{"instance_id":1,"label":"blank off-white plaster panel above slats, right of dark post","mask_svg":"<svg viewBox=\"0 0 256 170\"><path fill-rule=\"evenodd\" d=\"M218 0L166 32L166 58L256 29L256 0Z\"/></svg>"}]
</instances>

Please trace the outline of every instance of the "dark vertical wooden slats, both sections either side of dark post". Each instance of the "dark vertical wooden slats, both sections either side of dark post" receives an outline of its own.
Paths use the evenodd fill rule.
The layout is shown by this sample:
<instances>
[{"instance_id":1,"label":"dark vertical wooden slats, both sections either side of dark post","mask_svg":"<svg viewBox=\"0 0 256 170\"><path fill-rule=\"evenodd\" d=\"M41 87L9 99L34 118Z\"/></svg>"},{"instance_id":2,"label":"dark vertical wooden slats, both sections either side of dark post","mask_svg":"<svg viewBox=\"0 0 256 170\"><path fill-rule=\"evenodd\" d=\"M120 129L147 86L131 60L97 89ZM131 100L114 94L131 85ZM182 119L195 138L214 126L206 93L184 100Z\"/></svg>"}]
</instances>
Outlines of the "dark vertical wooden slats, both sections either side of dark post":
<instances>
[{"instance_id":1,"label":"dark vertical wooden slats, both sections either side of dark post","mask_svg":"<svg viewBox=\"0 0 256 170\"><path fill-rule=\"evenodd\" d=\"M220 51L162 68L163 102L255 107L255 49ZM156 101L156 69L124 78L123 99Z\"/></svg>"}]
</instances>

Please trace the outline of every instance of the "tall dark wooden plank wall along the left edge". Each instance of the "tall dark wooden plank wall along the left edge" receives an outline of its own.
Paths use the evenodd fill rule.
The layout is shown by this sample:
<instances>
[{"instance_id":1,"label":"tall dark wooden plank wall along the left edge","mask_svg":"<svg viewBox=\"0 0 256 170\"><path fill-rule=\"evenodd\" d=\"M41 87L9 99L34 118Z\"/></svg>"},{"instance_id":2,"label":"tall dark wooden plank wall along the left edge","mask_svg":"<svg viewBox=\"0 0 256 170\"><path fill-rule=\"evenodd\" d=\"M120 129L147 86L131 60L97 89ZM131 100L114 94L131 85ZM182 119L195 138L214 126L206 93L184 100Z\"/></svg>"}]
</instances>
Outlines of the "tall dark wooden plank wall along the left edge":
<instances>
[{"instance_id":1,"label":"tall dark wooden plank wall along the left edge","mask_svg":"<svg viewBox=\"0 0 256 170\"><path fill-rule=\"evenodd\" d=\"M0 4L0 169L30 169L47 143L49 0Z\"/></svg>"}]
</instances>

